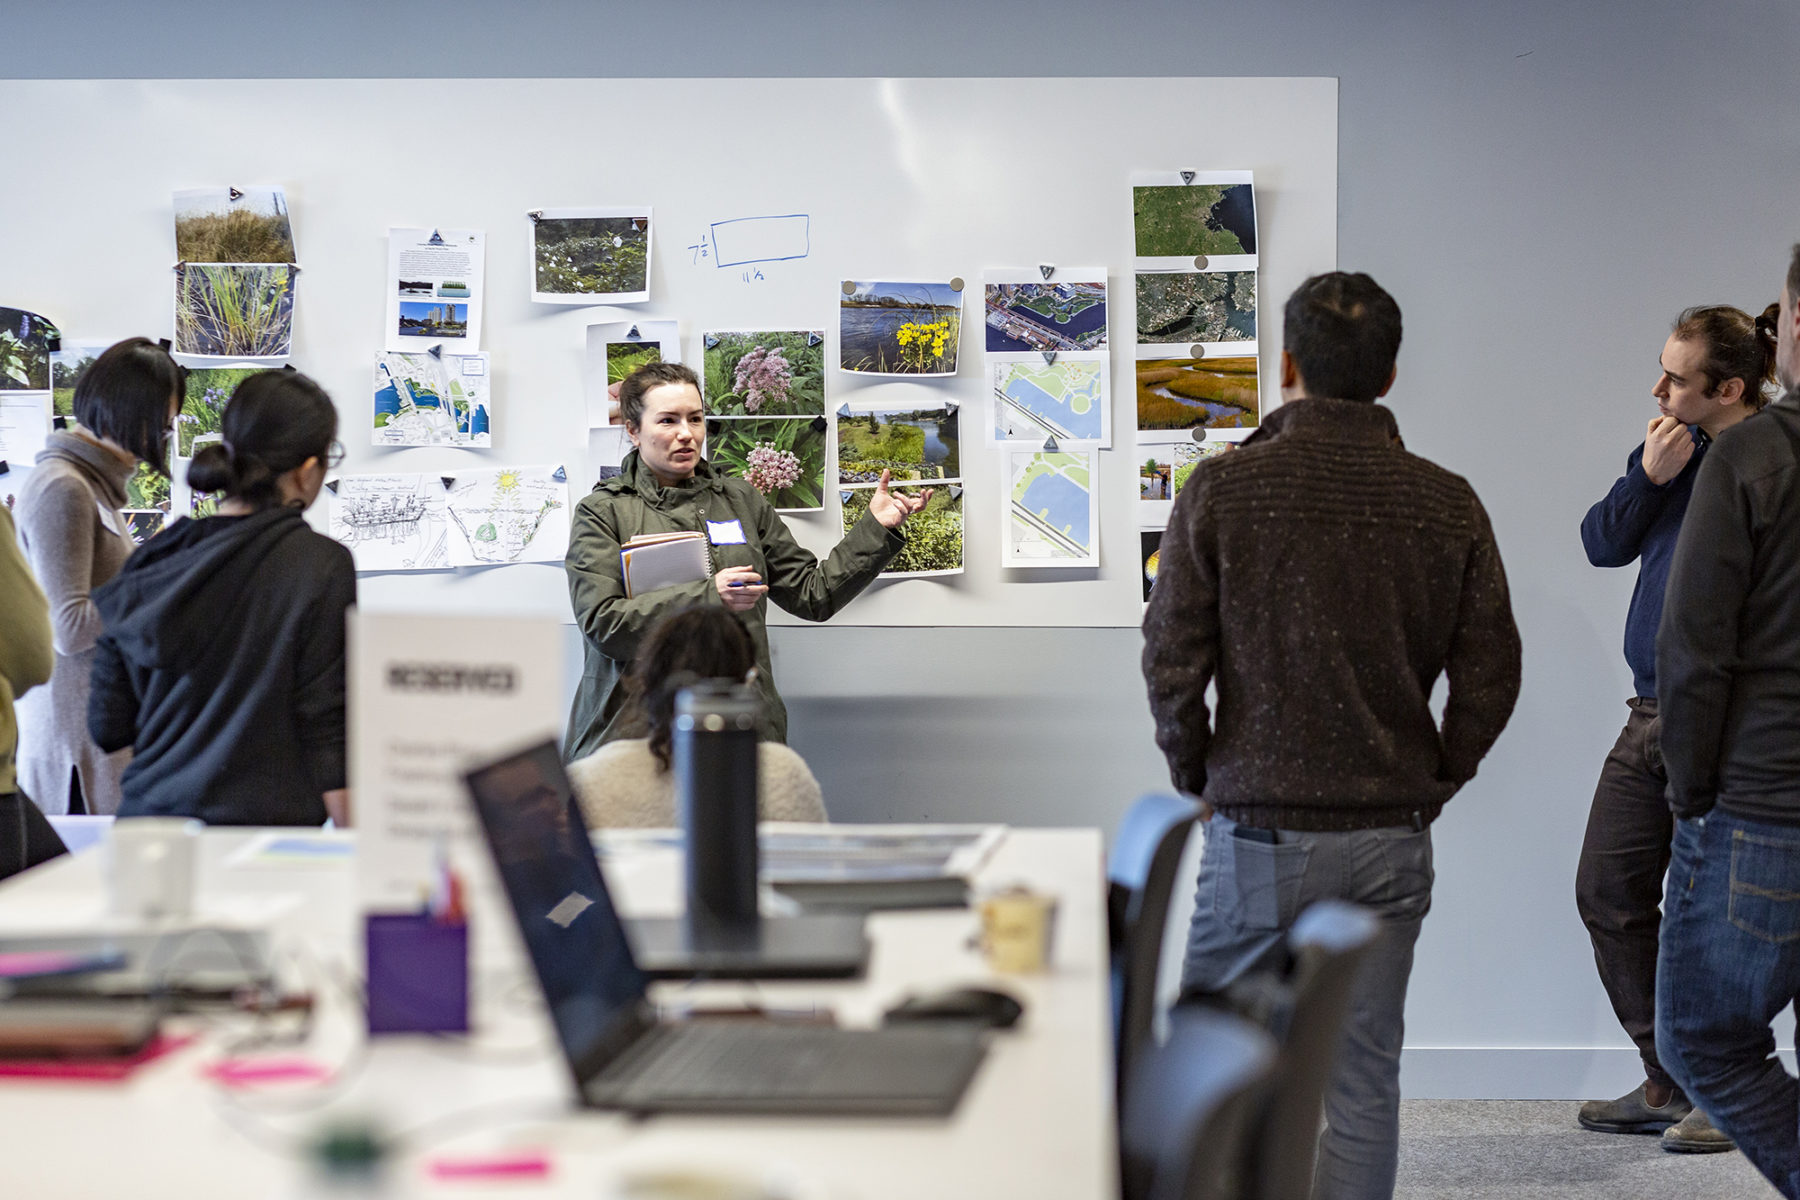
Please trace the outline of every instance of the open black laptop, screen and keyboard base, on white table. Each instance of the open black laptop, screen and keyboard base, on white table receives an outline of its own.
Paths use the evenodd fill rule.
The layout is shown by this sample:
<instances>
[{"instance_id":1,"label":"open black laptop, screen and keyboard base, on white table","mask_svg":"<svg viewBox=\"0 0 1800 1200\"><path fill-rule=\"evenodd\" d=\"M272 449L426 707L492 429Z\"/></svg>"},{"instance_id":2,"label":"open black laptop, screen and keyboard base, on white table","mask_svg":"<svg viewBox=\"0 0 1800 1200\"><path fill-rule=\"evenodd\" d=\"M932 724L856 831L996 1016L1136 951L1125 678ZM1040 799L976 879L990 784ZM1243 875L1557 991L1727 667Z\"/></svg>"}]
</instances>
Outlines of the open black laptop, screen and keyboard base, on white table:
<instances>
[{"instance_id":1,"label":"open black laptop, screen and keyboard base, on white table","mask_svg":"<svg viewBox=\"0 0 1800 1200\"><path fill-rule=\"evenodd\" d=\"M965 1024L659 1020L556 745L464 775L585 1105L949 1115L986 1052Z\"/></svg>"}]
</instances>

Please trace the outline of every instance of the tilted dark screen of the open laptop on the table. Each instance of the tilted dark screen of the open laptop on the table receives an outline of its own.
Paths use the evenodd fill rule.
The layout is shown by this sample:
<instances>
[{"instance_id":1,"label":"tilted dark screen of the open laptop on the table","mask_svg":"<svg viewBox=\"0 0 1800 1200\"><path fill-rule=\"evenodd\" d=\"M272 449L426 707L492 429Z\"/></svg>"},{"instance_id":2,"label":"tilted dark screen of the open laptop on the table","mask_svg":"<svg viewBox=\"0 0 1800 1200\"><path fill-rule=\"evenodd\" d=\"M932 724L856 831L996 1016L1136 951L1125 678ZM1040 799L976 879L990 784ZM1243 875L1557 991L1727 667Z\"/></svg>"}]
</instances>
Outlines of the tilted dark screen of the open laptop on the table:
<instances>
[{"instance_id":1,"label":"tilted dark screen of the open laptop on the table","mask_svg":"<svg viewBox=\"0 0 1800 1200\"><path fill-rule=\"evenodd\" d=\"M644 1027L646 977L612 909L556 745L545 741L464 779L580 1085Z\"/></svg>"}]
</instances>

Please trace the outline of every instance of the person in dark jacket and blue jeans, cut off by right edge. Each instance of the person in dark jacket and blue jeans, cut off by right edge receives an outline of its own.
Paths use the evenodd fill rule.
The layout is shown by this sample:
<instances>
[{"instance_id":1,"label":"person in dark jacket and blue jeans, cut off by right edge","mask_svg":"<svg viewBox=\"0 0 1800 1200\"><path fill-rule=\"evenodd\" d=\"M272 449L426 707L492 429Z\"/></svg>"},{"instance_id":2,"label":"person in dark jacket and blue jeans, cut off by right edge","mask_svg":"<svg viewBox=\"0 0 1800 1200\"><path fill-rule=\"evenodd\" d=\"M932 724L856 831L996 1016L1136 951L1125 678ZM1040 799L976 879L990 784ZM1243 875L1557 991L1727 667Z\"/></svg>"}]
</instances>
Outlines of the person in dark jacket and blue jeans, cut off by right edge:
<instances>
[{"instance_id":1,"label":"person in dark jacket and blue jeans, cut off by right edge","mask_svg":"<svg viewBox=\"0 0 1800 1200\"><path fill-rule=\"evenodd\" d=\"M1784 1196L1800 1087L1775 1015L1800 997L1800 245L1775 313L1784 389L1694 479L1656 637L1676 815L1656 1054ZM1764 315L1768 327L1768 315Z\"/></svg>"}]
</instances>

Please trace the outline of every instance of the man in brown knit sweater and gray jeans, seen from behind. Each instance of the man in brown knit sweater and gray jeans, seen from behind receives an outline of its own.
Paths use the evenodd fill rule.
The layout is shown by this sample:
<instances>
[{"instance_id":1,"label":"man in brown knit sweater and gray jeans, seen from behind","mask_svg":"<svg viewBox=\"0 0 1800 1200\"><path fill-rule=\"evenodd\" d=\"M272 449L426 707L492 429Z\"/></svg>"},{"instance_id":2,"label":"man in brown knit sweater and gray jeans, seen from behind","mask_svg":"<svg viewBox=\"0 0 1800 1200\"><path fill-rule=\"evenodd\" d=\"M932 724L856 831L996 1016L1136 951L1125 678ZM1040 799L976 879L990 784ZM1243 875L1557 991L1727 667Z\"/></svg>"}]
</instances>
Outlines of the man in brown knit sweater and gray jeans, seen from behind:
<instances>
[{"instance_id":1,"label":"man in brown knit sweater and gray jeans, seen from behind","mask_svg":"<svg viewBox=\"0 0 1800 1200\"><path fill-rule=\"evenodd\" d=\"M1206 813L1183 984L1274 964L1316 900L1381 918L1312 1195L1391 1196L1429 826L1512 714L1519 631L1474 489L1408 453L1373 403L1400 349L1393 297L1368 275L1316 275L1289 299L1283 340L1285 403L1175 500L1143 675L1170 775Z\"/></svg>"}]
</instances>

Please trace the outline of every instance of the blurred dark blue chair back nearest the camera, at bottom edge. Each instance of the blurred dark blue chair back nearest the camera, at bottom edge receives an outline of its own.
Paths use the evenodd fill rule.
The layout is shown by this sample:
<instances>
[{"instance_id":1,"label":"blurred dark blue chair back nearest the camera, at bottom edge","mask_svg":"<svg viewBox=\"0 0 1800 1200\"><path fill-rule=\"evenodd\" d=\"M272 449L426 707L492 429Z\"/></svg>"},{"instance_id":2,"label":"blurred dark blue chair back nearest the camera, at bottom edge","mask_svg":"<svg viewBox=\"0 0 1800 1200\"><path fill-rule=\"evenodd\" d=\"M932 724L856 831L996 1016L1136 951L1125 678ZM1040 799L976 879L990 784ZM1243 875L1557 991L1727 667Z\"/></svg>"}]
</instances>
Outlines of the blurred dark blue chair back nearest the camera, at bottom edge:
<instances>
[{"instance_id":1,"label":"blurred dark blue chair back nearest the camera, at bottom edge","mask_svg":"<svg viewBox=\"0 0 1800 1200\"><path fill-rule=\"evenodd\" d=\"M1190 1007L1132 1070L1120 1119L1123 1200L1238 1200L1280 1054L1231 1013Z\"/></svg>"}]
</instances>

